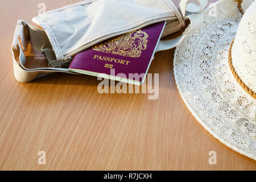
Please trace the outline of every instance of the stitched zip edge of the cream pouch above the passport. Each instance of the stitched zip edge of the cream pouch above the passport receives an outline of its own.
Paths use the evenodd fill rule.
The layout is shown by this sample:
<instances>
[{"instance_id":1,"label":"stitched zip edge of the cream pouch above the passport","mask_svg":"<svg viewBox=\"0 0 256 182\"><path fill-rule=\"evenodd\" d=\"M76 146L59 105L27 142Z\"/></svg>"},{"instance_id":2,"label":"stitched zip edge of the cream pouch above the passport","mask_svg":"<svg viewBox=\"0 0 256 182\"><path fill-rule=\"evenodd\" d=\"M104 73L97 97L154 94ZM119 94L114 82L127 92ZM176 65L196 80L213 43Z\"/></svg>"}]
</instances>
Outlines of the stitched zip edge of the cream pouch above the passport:
<instances>
[{"instance_id":1,"label":"stitched zip edge of the cream pouch above the passport","mask_svg":"<svg viewBox=\"0 0 256 182\"><path fill-rule=\"evenodd\" d=\"M176 18L176 16L170 16L170 13L162 13L162 14L158 14L158 15L154 15L154 16L148 16L147 18L137 20L137 22L130 23L126 26L122 26L122 27L118 27L118 28L112 28L112 29L107 30L105 32L101 32L100 34L95 35L95 36L91 37L90 39L84 40L84 42L82 42L81 44L83 44L82 46L84 46L85 44L93 42L93 39L96 40L96 39L102 38L104 36L113 34L113 32L117 33L118 31L124 31L125 29L127 30L127 29L130 29L130 28L133 28L135 25L138 26L139 24L143 24L143 23L149 22L149 21L154 20L154 19L159 19L159 18ZM81 46L79 46L79 47L81 47ZM67 54L67 52L72 51L73 49L77 49L79 47L72 48L72 49L61 49L61 51L63 51L63 54L65 55L65 54Z\"/></svg>"}]
</instances>

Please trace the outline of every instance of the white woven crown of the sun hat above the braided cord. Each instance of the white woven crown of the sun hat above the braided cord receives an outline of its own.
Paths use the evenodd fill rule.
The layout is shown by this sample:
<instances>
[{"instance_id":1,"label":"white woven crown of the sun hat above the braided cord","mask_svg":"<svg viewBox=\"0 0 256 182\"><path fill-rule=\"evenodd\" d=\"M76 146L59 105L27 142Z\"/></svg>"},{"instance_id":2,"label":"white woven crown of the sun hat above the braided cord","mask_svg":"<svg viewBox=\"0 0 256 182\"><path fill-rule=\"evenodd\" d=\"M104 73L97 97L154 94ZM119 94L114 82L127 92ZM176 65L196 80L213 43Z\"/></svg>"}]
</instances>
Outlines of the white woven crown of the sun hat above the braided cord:
<instances>
[{"instance_id":1,"label":"white woven crown of the sun hat above the braided cord","mask_svg":"<svg viewBox=\"0 0 256 182\"><path fill-rule=\"evenodd\" d=\"M232 63L241 80L256 92L256 1L245 11L238 26Z\"/></svg>"}]
</instances>

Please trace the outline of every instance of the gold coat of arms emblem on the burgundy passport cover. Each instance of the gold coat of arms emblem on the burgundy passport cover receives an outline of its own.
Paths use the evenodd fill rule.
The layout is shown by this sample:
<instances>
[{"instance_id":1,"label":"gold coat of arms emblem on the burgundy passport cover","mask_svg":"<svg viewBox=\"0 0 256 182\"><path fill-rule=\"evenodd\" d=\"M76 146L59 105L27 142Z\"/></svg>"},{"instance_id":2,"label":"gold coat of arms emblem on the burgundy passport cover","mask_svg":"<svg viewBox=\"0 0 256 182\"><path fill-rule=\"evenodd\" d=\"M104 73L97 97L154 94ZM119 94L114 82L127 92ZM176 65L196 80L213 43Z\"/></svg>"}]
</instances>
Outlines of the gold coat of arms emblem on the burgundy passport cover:
<instances>
[{"instance_id":1,"label":"gold coat of arms emblem on the burgundy passport cover","mask_svg":"<svg viewBox=\"0 0 256 182\"><path fill-rule=\"evenodd\" d=\"M108 42L93 47L94 51L112 53L126 57L139 57L146 50L148 35L141 29L118 36Z\"/></svg>"}]
</instances>

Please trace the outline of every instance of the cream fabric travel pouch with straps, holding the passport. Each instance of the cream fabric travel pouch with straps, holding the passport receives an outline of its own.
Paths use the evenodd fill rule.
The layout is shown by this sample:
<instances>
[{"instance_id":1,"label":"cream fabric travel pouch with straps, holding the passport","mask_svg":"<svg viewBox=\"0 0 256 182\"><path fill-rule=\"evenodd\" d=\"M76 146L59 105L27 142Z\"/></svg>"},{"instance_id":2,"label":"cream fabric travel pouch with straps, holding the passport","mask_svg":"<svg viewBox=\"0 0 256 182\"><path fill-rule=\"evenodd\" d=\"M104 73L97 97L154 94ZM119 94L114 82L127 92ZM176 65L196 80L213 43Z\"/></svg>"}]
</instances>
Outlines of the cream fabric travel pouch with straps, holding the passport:
<instances>
[{"instance_id":1,"label":"cream fabric travel pouch with straps, holding the passport","mask_svg":"<svg viewBox=\"0 0 256 182\"><path fill-rule=\"evenodd\" d=\"M163 32L163 36L166 36L179 31L184 27L184 20L189 18L191 31L194 31L203 18L200 14L186 16L187 2L181 0L180 7L176 7L171 0L88 0L33 18L33 22L43 30L19 20L12 46L15 78L20 82L28 82L44 73L73 73L65 67L77 53L103 40L153 23L166 21ZM207 0L198 2L200 6L187 7L192 7L190 11L200 13L207 5ZM157 51L175 47L184 36L185 34L174 40L161 41ZM49 67L25 67L24 52L29 43L32 48L44 53Z\"/></svg>"}]
</instances>

